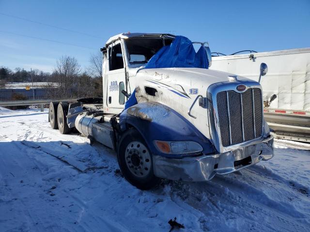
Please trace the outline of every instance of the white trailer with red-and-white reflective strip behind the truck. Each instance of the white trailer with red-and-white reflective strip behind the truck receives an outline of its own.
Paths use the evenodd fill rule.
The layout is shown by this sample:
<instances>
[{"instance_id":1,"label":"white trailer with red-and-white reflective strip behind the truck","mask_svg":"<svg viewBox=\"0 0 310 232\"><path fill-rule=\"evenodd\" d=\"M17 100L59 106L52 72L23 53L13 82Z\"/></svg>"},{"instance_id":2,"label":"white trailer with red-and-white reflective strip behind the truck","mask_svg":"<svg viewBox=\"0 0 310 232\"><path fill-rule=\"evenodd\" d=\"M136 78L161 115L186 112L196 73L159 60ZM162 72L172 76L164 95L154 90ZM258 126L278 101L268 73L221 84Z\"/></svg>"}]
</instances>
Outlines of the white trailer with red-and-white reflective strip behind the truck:
<instances>
[{"instance_id":1,"label":"white trailer with red-and-white reflective strip behind the truck","mask_svg":"<svg viewBox=\"0 0 310 232\"><path fill-rule=\"evenodd\" d=\"M258 81L261 63L268 65L260 83L269 126L277 138L309 142L310 48L213 57L211 69Z\"/></svg>"}]
</instances>

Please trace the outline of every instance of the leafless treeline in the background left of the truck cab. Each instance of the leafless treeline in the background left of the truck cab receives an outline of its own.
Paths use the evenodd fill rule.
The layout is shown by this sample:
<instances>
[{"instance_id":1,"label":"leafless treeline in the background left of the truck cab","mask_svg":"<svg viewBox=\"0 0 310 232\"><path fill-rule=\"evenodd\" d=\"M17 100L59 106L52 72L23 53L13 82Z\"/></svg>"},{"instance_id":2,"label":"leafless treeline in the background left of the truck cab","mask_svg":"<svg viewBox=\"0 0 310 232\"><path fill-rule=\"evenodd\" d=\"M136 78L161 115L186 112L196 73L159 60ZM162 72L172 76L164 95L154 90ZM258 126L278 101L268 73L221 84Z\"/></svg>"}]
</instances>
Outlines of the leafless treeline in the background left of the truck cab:
<instances>
[{"instance_id":1,"label":"leafless treeline in the background left of the truck cab","mask_svg":"<svg viewBox=\"0 0 310 232\"><path fill-rule=\"evenodd\" d=\"M0 88L8 82L47 82L45 88L51 99L102 97L102 54L92 55L90 64L82 71L76 58L62 56L52 73L0 67Z\"/></svg>"}]
</instances>

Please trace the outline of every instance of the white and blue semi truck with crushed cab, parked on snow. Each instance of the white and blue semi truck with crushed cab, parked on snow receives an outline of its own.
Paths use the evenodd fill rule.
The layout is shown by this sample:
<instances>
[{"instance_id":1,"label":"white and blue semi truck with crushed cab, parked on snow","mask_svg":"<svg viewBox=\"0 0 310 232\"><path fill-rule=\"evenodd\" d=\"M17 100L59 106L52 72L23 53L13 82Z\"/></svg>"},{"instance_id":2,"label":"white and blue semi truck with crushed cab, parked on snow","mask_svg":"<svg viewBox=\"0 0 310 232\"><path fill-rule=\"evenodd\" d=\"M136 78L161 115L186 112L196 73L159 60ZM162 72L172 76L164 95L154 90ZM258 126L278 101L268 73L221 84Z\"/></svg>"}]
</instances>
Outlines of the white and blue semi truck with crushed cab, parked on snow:
<instances>
[{"instance_id":1,"label":"white and blue semi truck with crushed cab, parked on snow","mask_svg":"<svg viewBox=\"0 0 310 232\"><path fill-rule=\"evenodd\" d=\"M91 143L114 149L124 177L140 189L162 178L210 180L274 155L261 85L208 69L211 52L205 43L194 54L207 57L199 60L204 68L188 67L182 49L192 52L192 44L176 41L171 34L113 36L101 48L103 98L50 102L53 129L68 133L75 127ZM155 56L165 61L173 46L173 62L179 63L148 67Z\"/></svg>"}]
</instances>

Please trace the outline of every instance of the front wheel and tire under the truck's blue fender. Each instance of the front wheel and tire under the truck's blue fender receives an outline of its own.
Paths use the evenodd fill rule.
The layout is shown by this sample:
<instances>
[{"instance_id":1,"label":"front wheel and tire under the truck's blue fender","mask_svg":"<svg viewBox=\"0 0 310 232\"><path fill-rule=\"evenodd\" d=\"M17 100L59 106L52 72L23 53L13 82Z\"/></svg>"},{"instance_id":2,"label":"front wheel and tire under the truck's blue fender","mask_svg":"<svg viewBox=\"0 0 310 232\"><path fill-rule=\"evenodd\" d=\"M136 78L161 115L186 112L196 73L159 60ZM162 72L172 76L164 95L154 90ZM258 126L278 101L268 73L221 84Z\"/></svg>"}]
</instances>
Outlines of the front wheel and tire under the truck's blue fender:
<instances>
[{"instance_id":1,"label":"front wheel and tire under the truck's blue fender","mask_svg":"<svg viewBox=\"0 0 310 232\"><path fill-rule=\"evenodd\" d=\"M126 131L117 149L117 160L125 179L142 190L154 188L161 179L153 172L152 154L140 133Z\"/></svg>"}]
</instances>

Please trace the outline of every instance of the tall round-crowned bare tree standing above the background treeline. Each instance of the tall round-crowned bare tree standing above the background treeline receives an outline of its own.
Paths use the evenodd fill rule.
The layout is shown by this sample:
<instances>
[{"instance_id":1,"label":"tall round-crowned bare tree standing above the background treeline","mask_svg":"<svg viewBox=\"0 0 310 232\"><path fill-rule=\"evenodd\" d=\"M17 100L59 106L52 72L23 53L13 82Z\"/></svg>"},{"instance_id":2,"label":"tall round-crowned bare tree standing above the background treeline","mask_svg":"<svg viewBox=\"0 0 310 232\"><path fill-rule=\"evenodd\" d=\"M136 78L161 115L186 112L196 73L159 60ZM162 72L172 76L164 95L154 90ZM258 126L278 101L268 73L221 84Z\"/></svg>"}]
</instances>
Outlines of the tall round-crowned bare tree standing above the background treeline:
<instances>
[{"instance_id":1,"label":"tall round-crowned bare tree standing above the background treeline","mask_svg":"<svg viewBox=\"0 0 310 232\"><path fill-rule=\"evenodd\" d=\"M72 89L78 79L80 73L80 65L74 57L62 56L56 61L54 70L55 82L58 83L58 97L72 97Z\"/></svg>"}]
</instances>

